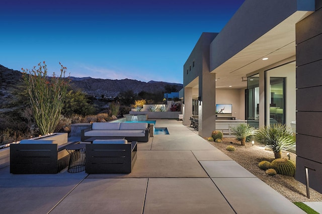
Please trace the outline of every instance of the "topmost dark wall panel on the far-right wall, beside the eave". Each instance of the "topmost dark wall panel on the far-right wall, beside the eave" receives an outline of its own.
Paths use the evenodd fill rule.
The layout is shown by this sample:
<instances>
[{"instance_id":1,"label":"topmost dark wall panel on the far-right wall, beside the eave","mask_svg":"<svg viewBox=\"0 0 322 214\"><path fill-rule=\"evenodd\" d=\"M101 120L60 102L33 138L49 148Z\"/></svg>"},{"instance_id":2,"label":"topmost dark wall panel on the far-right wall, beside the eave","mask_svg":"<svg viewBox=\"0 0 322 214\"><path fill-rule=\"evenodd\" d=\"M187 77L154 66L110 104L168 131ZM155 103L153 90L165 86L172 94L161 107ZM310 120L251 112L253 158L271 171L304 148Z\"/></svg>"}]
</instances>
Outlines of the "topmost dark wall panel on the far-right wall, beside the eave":
<instances>
[{"instance_id":1,"label":"topmost dark wall panel on the far-right wall, beside the eave","mask_svg":"<svg viewBox=\"0 0 322 214\"><path fill-rule=\"evenodd\" d=\"M296 44L322 34L322 17L320 13L322 13L322 10L313 13L295 25Z\"/></svg>"}]
</instances>

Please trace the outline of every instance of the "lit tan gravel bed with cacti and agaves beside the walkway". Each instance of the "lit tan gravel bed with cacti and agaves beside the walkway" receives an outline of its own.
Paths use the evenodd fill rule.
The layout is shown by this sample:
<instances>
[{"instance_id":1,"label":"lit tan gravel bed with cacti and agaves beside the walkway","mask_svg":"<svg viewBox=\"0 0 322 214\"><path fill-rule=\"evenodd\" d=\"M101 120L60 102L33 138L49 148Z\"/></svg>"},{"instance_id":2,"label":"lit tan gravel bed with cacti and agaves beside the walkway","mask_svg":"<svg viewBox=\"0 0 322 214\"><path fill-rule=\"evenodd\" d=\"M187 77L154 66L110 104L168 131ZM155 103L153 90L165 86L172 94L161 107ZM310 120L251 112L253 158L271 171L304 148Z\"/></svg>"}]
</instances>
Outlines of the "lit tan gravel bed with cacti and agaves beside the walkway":
<instances>
[{"instance_id":1,"label":"lit tan gravel bed with cacti and agaves beside the walkway","mask_svg":"<svg viewBox=\"0 0 322 214\"><path fill-rule=\"evenodd\" d=\"M241 146L240 142L235 138L223 138L222 143L209 142L211 145L228 155L232 160L243 166L245 169L253 173L256 177L270 185L273 189L285 196L292 202L296 201L322 201L322 194L310 189L310 198L306 197L306 186L294 177L277 174L270 176L265 174L265 171L258 167L258 163L267 160L274 160L273 151L267 150L264 145L246 143L246 146ZM229 152L226 150L228 145L235 147L235 151ZM286 151L282 152L282 157L287 158ZM290 153L291 160L295 162L296 155Z\"/></svg>"}]
</instances>

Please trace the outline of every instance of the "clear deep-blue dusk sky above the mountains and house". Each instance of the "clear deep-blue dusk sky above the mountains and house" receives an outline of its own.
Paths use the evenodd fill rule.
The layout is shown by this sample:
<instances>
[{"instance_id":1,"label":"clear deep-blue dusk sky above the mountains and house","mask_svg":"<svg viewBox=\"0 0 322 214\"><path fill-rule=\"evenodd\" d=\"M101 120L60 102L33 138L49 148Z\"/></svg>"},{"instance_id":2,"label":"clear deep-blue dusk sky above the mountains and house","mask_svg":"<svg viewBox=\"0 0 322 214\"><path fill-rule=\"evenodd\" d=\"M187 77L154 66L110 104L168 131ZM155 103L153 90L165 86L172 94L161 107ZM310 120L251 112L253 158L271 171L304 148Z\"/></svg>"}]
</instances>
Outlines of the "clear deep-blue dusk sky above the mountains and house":
<instances>
[{"instance_id":1,"label":"clear deep-blue dusk sky above the mountains and house","mask_svg":"<svg viewBox=\"0 0 322 214\"><path fill-rule=\"evenodd\" d=\"M70 76L183 82L202 32L220 32L244 0L3 0L0 64L46 61Z\"/></svg>"}]
</instances>

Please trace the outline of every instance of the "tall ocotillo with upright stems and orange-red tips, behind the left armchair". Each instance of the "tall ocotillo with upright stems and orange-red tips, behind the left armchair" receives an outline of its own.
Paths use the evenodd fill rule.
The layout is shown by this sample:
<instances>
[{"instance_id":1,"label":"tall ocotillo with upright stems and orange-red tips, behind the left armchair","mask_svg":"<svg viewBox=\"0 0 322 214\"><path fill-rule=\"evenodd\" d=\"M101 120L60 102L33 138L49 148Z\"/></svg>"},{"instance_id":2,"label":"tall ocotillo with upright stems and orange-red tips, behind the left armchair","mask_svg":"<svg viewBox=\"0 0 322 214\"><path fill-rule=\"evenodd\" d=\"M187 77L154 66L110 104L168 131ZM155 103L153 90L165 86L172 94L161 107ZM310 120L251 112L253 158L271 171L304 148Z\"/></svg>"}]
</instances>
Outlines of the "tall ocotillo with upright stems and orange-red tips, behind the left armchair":
<instances>
[{"instance_id":1,"label":"tall ocotillo with upright stems and orange-red tips, behind the left armchair","mask_svg":"<svg viewBox=\"0 0 322 214\"><path fill-rule=\"evenodd\" d=\"M60 62L59 62L60 64ZM61 65L60 75L47 75L47 65L39 63L38 68L23 69L23 80L27 85L31 108L40 134L52 133L58 124L69 79L65 78L66 67Z\"/></svg>"}]
</instances>

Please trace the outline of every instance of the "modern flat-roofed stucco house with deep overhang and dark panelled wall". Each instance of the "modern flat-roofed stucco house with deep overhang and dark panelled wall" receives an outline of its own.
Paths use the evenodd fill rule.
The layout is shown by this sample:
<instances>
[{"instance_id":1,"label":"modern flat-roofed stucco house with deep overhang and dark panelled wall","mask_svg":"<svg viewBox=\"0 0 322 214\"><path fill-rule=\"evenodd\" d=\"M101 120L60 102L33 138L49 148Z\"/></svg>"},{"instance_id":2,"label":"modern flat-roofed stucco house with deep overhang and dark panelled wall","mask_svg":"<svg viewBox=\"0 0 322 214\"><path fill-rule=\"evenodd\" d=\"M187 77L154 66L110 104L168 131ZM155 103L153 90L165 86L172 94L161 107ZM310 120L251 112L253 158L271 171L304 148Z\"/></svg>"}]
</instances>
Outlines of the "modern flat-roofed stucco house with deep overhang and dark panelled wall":
<instances>
[{"instance_id":1,"label":"modern flat-roofed stucco house with deep overhang and dark panelled wall","mask_svg":"<svg viewBox=\"0 0 322 214\"><path fill-rule=\"evenodd\" d=\"M296 124L296 179L314 169L310 187L322 192L321 0L246 0L220 33L201 35L183 72L185 125L198 116L209 137L218 103L255 127Z\"/></svg>"}]
</instances>

